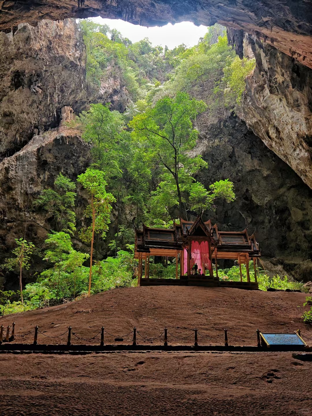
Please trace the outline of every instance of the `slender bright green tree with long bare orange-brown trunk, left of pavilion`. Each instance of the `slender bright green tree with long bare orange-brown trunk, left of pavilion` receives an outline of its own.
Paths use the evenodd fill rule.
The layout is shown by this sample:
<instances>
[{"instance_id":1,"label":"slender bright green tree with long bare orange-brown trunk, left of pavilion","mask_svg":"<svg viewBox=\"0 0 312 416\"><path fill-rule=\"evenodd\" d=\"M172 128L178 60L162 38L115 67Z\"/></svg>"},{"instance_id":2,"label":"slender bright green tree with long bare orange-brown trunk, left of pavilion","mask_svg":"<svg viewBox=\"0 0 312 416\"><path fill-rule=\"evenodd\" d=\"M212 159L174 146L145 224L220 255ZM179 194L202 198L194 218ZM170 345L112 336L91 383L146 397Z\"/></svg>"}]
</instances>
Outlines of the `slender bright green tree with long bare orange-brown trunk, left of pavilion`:
<instances>
[{"instance_id":1,"label":"slender bright green tree with long bare orange-brown trunk, left of pavilion","mask_svg":"<svg viewBox=\"0 0 312 416\"><path fill-rule=\"evenodd\" d=\"M105 181L105 174L102 171L88 168L85 173L78 176L78 182L81 183L91 197L91 203L84 211L84 216L91 218L91 225L83 228L79 233L81 240L91 242L88 288L88 296L90 296L94 233L99 233L101 237L105 237L108 224L111 222L111 203L116 200L111 193L106 192L107 183Z\"/></svg>"}]
</instances>

